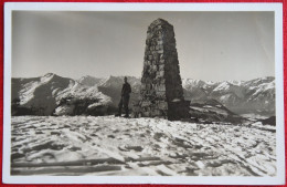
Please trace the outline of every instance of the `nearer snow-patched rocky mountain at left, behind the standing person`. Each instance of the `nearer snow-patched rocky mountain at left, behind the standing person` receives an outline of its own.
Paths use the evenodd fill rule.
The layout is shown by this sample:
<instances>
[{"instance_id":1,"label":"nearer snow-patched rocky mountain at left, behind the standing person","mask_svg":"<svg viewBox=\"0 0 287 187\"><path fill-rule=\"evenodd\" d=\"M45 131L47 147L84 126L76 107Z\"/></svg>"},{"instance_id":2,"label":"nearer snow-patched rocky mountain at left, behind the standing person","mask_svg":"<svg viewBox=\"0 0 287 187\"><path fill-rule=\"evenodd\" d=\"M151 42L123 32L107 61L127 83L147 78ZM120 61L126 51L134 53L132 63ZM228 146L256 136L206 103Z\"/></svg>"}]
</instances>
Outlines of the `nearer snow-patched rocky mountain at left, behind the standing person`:
<instances>
[{"instance_id":1,"label":"nearer snow-patched rocky mountain at left, behind the standing person","mask_svg":"<svg viewBox=\"0 0 287 187\"><path fill-rule=\"evenodd\" d=\"M47 73L41 77L12 79L12 115L104 114L110 97L96 86Z\"/></svg>"}]
</instances>

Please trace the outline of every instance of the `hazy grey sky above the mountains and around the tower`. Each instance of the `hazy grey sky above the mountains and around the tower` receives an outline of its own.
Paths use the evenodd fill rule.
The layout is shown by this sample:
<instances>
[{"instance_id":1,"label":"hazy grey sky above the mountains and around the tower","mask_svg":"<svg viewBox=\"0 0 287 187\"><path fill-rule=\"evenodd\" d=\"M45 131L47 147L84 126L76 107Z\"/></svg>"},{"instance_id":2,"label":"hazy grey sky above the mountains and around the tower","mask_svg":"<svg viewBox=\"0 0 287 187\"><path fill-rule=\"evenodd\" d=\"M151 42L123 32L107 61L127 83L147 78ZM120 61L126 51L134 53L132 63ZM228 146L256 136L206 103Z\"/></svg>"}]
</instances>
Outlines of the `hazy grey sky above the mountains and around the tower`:
<instances>
[{"instance_id":1,"label":"hazy grey sky above the mountains and around the tower","mask_svg":"<svg viewBox=\"0 0 287 187\"><path fill-rule=\"evenodd\" d=\"M148 25L174 27L182 77L274 76L274 12L13 11L12 76L140 76Z\"/></svg>"}]
</instances>

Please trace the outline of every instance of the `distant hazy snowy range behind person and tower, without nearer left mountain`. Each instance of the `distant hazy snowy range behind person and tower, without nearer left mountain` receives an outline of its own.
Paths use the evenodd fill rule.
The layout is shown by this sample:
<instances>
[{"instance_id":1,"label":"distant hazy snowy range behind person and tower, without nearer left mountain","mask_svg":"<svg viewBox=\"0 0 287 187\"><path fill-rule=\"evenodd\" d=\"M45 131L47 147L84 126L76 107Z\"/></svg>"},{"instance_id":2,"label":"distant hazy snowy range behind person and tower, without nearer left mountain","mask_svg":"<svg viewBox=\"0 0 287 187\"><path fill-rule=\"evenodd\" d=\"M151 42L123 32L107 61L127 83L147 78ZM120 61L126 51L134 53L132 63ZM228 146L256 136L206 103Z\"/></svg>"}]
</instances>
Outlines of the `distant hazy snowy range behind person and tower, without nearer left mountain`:
<instances>
[{"instance_id":1,"label":"distant hazy snowy range behind person and tower, without nearer left mountain","mask_svg":"<svg viewBox=\"0 0 287 187\"><path fill-rule=\"evenodd\" d=\"M93 84L98 85L98 90L110 96L117 105L123 80L124 76L110 76L102 81L94 81ZM134 101L139 96L140 79L129 76L128 80L132 87L131 97ZM182 87L185 100L191 101L191 103L205 103L208 100L216 100L238 114L275 115L275 77L273 76L251 81L222 82L182 79Z\"/></svg>"}]
</instances>

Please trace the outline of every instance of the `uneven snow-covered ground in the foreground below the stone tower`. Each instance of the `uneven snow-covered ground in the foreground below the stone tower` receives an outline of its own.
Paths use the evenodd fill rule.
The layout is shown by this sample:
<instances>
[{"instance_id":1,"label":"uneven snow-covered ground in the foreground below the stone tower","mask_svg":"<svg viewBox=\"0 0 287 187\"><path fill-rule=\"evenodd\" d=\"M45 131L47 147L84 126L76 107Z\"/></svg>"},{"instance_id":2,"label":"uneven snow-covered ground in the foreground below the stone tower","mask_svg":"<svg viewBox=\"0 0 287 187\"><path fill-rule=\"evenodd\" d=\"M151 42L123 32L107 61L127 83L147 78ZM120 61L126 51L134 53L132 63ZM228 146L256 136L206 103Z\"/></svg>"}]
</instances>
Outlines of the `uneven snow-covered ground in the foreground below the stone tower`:
<instances>
[{"instance_id":1,"label":"uneven snow-covered ground in the foreground below the stone tower","mask_svg":"<svg viewBox=\"0 0 287 187\"><path fill-rule=\"evenodd\" d=\"M275 131L256 126L18 116L11 143L12 175L276 175Z\"/></svg>"}]
</instances>

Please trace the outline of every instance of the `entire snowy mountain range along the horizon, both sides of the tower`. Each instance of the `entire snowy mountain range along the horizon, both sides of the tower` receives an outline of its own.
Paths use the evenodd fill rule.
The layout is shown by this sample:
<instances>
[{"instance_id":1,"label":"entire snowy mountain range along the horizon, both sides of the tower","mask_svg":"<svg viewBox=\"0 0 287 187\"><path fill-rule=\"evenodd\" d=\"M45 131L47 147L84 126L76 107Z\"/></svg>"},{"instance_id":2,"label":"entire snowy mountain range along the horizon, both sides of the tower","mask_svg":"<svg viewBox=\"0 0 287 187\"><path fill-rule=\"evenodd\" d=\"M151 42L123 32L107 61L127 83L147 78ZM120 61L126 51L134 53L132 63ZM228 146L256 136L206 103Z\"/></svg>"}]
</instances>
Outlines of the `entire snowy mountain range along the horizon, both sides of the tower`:
<instances>
[{"instance_id":1,"label":"entire snowy mountain range along the horizon, both sides of the tower","mask_svg":"<svg viewBox=\"0 0 287 187\"><path fill-rule=\"evenodd\" d=\"M140 79L128 76L130 106L139 96ZM124 76L79 80L53 73L31 79L12 79L12 115L102 115L114 113L120 100ZM183 79L185 100L191 105L215 100L232 112L275 115L275 79L204 82Z\"/></svg>"}]
</instances>

